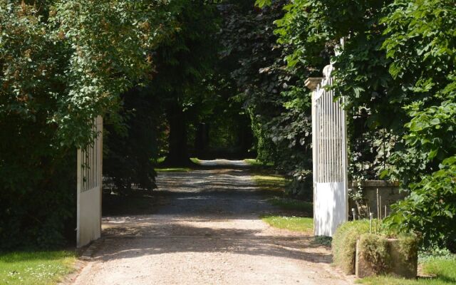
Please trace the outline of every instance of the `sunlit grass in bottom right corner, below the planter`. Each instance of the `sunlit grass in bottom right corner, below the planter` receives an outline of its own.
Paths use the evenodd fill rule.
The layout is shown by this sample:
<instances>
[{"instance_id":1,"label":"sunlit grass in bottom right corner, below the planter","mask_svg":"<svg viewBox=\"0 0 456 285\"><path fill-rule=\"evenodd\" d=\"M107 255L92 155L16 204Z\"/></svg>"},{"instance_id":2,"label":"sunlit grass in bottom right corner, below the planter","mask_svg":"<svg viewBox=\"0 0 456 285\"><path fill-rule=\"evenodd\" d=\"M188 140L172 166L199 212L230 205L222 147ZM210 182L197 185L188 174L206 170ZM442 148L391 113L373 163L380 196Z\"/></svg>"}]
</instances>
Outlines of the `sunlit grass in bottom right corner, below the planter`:
<instances>
[{"instance_id":1,"label":"sunlit grass in bottom right corner, below the planter","mask_svg":"<svg viewBox=\"0 0 456 285\"><path fill-rule=\"evenodd\" d=\"M418 277L416 280L375 276L359 280L357 283L368 285L450 285L456 284L456 257L446 259L436 257L423 262L423 273L430 277Z\"/></svg>"}]
</instances>

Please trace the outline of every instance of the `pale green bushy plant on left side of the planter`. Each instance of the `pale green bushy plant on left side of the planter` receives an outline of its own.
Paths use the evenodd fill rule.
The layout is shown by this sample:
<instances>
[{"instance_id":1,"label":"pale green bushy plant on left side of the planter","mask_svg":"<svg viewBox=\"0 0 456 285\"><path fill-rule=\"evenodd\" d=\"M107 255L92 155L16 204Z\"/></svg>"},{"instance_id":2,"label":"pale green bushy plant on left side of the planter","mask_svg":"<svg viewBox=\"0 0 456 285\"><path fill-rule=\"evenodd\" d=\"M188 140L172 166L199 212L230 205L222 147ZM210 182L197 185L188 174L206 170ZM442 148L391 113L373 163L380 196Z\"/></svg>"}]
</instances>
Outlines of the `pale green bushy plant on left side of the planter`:
<instances>
[{"instance_id":1,"label":"pale green bushy plant on left side of the planter","mask_svg":"<svg viewBox=\"0 0 456 285\"><path fill-rule=\"evenodd\" d=\"M346 222L336 230L331 244L333 250L333 262L340 267L344 273L355 272L356 240L369 232L369 221L367 219Z\"/></svg>"}]
</instances>

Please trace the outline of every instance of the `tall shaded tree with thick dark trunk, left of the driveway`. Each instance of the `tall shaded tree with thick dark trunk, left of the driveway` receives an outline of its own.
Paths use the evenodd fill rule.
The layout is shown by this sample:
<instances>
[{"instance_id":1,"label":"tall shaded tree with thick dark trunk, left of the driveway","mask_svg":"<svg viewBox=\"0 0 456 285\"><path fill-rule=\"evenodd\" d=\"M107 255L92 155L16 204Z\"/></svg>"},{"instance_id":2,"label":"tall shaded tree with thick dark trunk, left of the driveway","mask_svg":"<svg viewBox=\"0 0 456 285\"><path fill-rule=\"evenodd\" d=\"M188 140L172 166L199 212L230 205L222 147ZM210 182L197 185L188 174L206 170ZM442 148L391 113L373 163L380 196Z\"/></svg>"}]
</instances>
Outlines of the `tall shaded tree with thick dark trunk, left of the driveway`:
<instances>
[{"instance_id":1,"label":"tall shaded tree with thick dark trunk, left of the driveway","mask_svg":"<svg viewBox=\"0 0 456 285\"><path fill-rule=\"evenodd\" d=\"M217 59L217 9L202 0L177 1L177 28L154 51L151 92L161 99L170 127L167 165L189 165L187 125L202 103Z\"/></svg>"}]
</instances>

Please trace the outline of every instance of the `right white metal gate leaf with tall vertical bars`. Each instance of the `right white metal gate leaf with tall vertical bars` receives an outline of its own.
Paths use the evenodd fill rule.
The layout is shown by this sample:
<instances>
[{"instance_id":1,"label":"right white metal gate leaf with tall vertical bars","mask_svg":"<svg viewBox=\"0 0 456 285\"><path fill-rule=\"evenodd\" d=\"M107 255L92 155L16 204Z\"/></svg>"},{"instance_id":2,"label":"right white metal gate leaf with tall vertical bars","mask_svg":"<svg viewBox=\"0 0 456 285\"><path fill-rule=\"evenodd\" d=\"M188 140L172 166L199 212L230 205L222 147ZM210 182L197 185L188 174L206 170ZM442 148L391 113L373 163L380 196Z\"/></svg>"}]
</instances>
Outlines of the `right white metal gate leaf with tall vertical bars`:
<instances>
[{"instance_id":1,"label":"right white metal gate leaf with tall vertical bars","mask_svg":"<svg viewBox=\"0 0 456 285\"><path fill-rule=\"evenodd\" d=\"M332 66L312 93L314 234L332 237L348 219L347 128L343 98L334 100Z\"/></svg>"}]
</instances>

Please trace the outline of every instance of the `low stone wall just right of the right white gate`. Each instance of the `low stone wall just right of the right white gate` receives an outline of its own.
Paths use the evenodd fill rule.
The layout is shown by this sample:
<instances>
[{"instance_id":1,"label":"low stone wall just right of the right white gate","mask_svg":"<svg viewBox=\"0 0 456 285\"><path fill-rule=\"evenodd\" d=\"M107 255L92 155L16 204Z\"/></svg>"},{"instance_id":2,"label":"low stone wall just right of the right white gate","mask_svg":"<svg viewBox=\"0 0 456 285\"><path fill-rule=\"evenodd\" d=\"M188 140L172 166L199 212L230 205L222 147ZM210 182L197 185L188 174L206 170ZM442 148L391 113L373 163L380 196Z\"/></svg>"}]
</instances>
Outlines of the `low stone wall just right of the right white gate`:
<instances>
[{"instance_id":1,"label":"low stone wall just right of the right white gate","mask_svg":"<svg viewBox=\"0 0 456 285\"><path fill-rule=\"evenodd\" d=\"M348 188L351 190L358 190L358 182L349 182ZM377 211L377 190L378 195L381 197L382 217L385 215L385 206L387 214L390 213L390 205L394 204L399 199L404 199L405 192L399 192L399 186L396 182L385 180L366 180L361 182L361 192L363 195L363 202L361 203L361 214L368 215L368 212L373 213L373 217L378 217ZM350 216L353 219L351 212L352 208L357 209L356 203L353 199L348 202L350 209ZM358 212L358 211L356 211Z\"/></svg>"}]
</instances>

